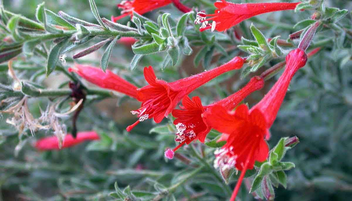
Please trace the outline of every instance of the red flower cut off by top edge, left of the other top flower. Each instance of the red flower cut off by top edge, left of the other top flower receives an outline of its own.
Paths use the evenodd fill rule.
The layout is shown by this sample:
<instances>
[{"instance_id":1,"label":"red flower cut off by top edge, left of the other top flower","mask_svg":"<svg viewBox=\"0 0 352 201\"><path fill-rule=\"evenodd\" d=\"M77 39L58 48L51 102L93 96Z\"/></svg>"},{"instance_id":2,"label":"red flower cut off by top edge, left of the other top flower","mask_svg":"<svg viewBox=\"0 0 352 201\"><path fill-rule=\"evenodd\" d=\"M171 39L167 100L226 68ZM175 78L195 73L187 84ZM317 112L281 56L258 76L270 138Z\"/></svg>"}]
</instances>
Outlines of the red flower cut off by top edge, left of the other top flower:
<instances>
[{"instance_id":1,"label":"red flower cut off by top edge, left of the other top flower","mask_svg":"<svg viewBox=\"0 0 352 201\"><path fill-rule=\"evenodd\" d=\"M121 15L118 17L112 16L111 20L116 22L117 20L124 18L127 15L132 17L133 11L143 15L144 13L166 6L170 3L171 0L124 0L117 5L118 8L122 9Z\"/></svg>"}]
</instances>

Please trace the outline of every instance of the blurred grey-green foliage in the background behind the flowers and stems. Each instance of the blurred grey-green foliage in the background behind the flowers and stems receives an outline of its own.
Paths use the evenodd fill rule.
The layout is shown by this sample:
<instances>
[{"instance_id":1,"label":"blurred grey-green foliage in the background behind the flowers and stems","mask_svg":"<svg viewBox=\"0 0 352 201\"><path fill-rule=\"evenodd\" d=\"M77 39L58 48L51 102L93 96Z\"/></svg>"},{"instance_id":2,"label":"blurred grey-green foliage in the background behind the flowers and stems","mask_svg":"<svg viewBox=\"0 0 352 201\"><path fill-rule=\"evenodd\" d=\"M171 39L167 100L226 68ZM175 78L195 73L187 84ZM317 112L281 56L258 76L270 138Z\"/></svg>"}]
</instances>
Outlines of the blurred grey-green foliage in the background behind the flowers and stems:
<instances>
[{"instance_id":1,"label":"blurred grey-green foliage in the background behind the flowers and stems","mask_svg":"<svg viewBox=\"0 0 352 201\"><path fill-rule=\"evenodd\" d=\"M4 6L11 12L34 19L34 11L41 2L5 0ZM95 22L87 0L46 0L45 2L46 8L55 13L62 10L79 19ZM192 1L184 2L193 5ZM206 5L207 2L211 1L202 0L195 4ZM327 0L325 2L329 6L349 11L352 8L350 1ZM117 3L96 0L101 17L109 19L111 15L118 15L119 11L115 6ZM181 13L172 6L161 10L171 13L172 16L181 17ZM266 38L281 35L282 39L286 39L295 31L293 25L309 18L310 14L309 11L299 14L293 11L264 14L241 23L239 27L248 39L253 39L249 30L251 21ZM157 12L146 14L146 17L153 20L156 20L157 16ZM127 22L129 18L124 20ZM269 26L266 22L271 22L274 26ZM352 30L351 12L339 22L339 25L347 31ZM315 36L315 41L328 36L335 37L336 40L341 38L338 32L323 31ZM343 36L342 43L341 40L340 43L334 41L323 48L308 60L307 65L297 72L291 82L277 120L271 128L272 137L269 144L272 148L281 137L287 136L299 137L300 143L288 151L284 158L284 161L294 162L296 168L287 173L288 188L275 189L277 200L350 200L352 196L351 40L351 33L347 33ZM226 46L231 43L232 41L229 40L221 44ZM218 63L224 63L238 52L238 50L229 51L228 56L221 56ZM71 54L69 53L69 56ZM88 56L78 62L98 66L103 50L99 50L98 54L98 57ZM184 73L179 73L180 69L187 71L194 68L193 60L189 59L188 62L180 62L175 67L161 71L159 68L162 67L160 64L163 61L163 53L144 56L136 70L129 72L130 61L133 58L130 48L116 46L112 57L109 69L122 72L127 80L138 86L144 85L142 76L144 65L156 66L158 78L165 80L175 80L184 76ZM183 58L183 60L187 59L186 56ZM43 66L44 63L43 59L33 58L29 63L17 65ZM72 61L68 60L68 63L72 64ZM268 68L276 63L274 60L264 67ZM212 63L212 66L215 65L216 63ZM191 74L196 71L187 72ZM2 84L12 84L6 70L0 73ZM213 97L217 99L226 97L232 91L239 89L250 77L240 80L239 74L230 72L220 76L191 96L201 96L205 104L214 101ZM33 72L21 71L18 76L28 78L33 76ZM228 84L225 81L230 77L232 79ZM38 81L43 84L45 78L39 78ZM249 102L250 106L256 103L274 81L275 79L268 82L265 89L251 95L246 102ZM118 110L115 110L116 102L119 102ZM45 108L47 104L47 99L31 99L30 110L38 117L39 105ZM0 122L0 201L118 200L121 194L130 195L129 188L126 188L128 185L133 195L151 200L158 195L164 195L166 190L172 189L170 187L180 182L182 182L180 187L172 189L174 194L165 195L163 200L215 201L224 200L229 191L231 193L237 177L233 175L229 186L226 186L224 182L217 180L219 174L212 167L205 166L205 163L212 165L213 148L197 143L195 148L188 146L178 151L185 155L187 160L182 161L177 158L172 161L165 160L165 148L175 147L172 117L162 123L162 125L169 124L169 128L157 130L158 133L149 132L156 127L151 120L140 123L133 132L127 133L126 126L134 120L127 115L126 111L136 106L138 106L137 102L125 97L119 100L110 99L103 103L92 101L84 108L77 125L79 130L97 131L101 135L101 140L86 142L60 151L46 152L38 152L32 147L32 143L36 139L51 134L39 131L35 136L31 136L30 132L27 136L18 136L17 131L6 124L7 115L3 114ZM70 119L64 121L70 131ZM213 139L217 135L212 132L208 138ZM203 165L205 167L202 169ZM193 173L195 175L192 175ZM183 180L188 176L192 176L191 179ZM115 186L115 182L118 186ZM125 189L122 192L120 188ZM239 197L246 201L254 199L251 194L248 194L245 185Z\"/></svg>"}]
</instances>

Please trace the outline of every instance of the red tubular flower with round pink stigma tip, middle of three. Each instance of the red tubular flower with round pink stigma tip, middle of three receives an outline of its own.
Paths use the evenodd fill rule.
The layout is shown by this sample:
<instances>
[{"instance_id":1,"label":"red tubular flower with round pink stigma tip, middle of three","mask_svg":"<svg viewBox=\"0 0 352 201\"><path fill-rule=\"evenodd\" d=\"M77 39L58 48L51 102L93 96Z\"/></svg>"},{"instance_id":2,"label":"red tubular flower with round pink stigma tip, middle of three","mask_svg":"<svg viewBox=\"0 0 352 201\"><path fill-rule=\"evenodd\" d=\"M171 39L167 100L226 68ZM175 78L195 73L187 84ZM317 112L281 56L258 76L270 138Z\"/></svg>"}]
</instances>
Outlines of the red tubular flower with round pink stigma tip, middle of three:
<instances>
[{"instance_id":1,"label":"red tubular flower with round pink stigma tip, middle of three","mask_svg":"<svg viewBox=\"0 0 352 201\"><path fill-rule=\"evenodd\" d=\"M212 127L207 125L206 121L203 119L203 114L205 114L208 109L216 105L221 105L227 110L232 110L245 97L256 90L261 89L263 86L264 80L262 78L258 76L253 77L241 90L208 106L203 106L201 99L198 96L193 97L192 100L188 96L185 96L182 100L183 106L181 107L181 110L172 110L172 116L176 118L174 121L177 129L177 137L175 140L180 142L180 144L172 151L176 151L184 143L189 144L197 139L204 143L205 137L212 129ZM170 151L168 153L170 153ZM169 157L171 155L165 156L172 159L172 157Z\"/></svg>"}]
</instances>

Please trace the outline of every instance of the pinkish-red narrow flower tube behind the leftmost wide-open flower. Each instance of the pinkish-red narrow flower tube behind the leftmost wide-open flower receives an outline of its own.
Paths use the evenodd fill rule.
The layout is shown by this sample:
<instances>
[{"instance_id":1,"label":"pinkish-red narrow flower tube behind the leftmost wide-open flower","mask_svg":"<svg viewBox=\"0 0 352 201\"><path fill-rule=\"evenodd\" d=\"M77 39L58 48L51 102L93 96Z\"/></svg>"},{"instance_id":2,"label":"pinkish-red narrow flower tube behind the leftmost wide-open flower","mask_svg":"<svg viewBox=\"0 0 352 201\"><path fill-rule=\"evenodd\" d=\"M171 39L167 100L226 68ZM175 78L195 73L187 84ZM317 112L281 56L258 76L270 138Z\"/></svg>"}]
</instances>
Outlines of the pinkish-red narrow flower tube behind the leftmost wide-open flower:
<instances>
[{"instance_id":1,"label":"pinkish-red narrow flower tube behind the leftmost wide-open flower","mask_svg":"<svg viewBox=\"0 0 352 201\"><path fill-rule=\"evenodd\" d=\"M109 70L104 72L98 67L75 64L75 66L70 67L68 71L75 72L88 82L102 88L111 89L124 93L132 98L137 98L137 87Z\"/></svg>"}]
</instances>

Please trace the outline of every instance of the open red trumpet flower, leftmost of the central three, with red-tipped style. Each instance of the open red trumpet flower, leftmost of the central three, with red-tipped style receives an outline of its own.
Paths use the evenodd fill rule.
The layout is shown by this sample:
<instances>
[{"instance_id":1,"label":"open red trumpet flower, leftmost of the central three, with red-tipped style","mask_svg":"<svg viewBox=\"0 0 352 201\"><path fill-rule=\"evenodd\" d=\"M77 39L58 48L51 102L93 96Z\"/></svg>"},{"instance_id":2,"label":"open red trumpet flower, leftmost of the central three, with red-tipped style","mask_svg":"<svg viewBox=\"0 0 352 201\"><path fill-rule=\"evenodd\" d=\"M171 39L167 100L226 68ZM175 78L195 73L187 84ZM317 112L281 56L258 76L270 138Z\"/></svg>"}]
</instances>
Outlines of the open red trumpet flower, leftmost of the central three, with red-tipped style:
<instances>
[{"instance_id":1,"label":"open red trumpet flower, leftmost of the central three, with red-tipped style","mask_svg":"<svg viewBox=\"0 0 352 201\"><path fill-rule=\"evenodd\" d=\"M131 131L139 122L148 118L154 118L156 123L160 123L183 97L222 73L240 69L243 63L243 58L235 57L228 63L212 70L171 83L157 79L151 66L145 67L144 77L149 85L137 89L137 100L142 102L142 105L138 110L131 111L132 114L138 115L139 120L128 126L126 130Z\"/></svg>"}]
</instances>

